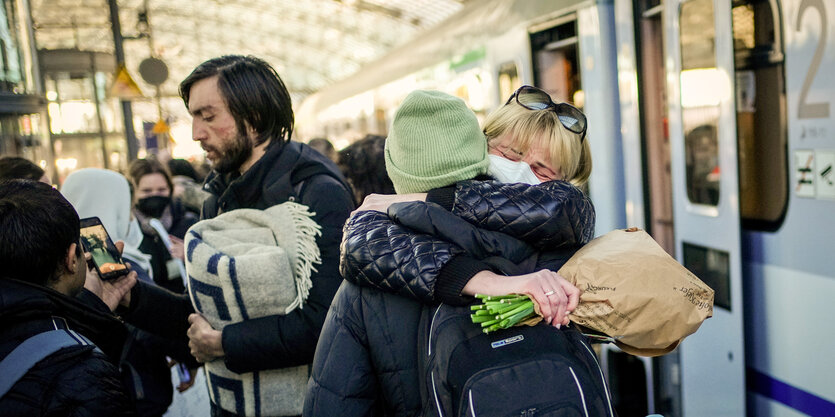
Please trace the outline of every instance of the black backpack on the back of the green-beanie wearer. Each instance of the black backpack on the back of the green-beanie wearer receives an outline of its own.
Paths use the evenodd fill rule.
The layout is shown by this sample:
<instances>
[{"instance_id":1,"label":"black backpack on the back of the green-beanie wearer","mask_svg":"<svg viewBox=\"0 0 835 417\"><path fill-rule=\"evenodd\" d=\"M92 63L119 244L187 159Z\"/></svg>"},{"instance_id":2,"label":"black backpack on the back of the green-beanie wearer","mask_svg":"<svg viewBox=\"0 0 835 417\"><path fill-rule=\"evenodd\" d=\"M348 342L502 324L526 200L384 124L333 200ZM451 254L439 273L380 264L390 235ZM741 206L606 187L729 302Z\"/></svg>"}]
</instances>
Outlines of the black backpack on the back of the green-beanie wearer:
<instances>
[{"instance_id":1,"label":"black backpack on the back of the green-beanie wearer","mask_svg":"<svg viewBox=\"0 0 835 417\"><path fill-rule=\"evenodd\" d=\"M484 334L470 313L468 306L424 308L424 415L615 416L597 356L574 325Z\"/></svg>"}]
</instances>

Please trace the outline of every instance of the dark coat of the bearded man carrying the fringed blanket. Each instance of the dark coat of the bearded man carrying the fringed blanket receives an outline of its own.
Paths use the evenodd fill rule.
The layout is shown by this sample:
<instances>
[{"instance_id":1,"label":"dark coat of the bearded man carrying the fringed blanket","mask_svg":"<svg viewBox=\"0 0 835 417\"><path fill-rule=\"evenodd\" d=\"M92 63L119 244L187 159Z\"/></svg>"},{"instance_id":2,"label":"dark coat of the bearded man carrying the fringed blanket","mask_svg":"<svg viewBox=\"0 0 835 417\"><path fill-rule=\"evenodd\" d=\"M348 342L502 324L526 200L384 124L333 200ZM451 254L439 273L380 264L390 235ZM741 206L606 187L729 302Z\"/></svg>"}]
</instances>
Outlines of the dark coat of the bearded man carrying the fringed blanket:
<instances>
[{"instance_id":1,"label":"dark coat of the bearded man carrying the fringed blanket","mask_svg":"<svg viewBox=\"0 0 835 417\"><path fill-rule=\"evenodd\" d=\"M212 173L204 187L210 196L202 218L213 218L239 208L266 209L295 201L315 213L322 230L316 243L322 263L316 265L313 287L304 308L284 316L267 316L226 326L223 349L226 367L244 373L309 364L342 278L339 243L342 226L354 208L350 188L336 166L307 145L272 145L243 175ZM186 249L188 250L188 249ZM187 296L172 296L138 283L131 293L126 318L136 326L175 338L185 338L188 314L194 312ZM164 320L163 320L164 319Z\"/></svg>"}]
</instances>

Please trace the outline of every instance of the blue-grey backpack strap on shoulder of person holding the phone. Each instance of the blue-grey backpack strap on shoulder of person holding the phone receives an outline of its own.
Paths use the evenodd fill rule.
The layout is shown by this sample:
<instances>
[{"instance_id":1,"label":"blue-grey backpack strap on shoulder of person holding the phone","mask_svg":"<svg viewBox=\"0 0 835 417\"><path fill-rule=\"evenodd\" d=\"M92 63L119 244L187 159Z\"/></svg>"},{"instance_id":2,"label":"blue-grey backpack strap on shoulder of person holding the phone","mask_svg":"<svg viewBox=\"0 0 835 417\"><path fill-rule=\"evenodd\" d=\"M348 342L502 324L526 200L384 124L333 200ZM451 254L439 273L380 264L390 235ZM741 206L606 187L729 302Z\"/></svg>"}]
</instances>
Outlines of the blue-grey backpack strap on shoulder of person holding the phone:
<instances>
[{"instance_id":1,"label":"blue-grey backpack strap on shoulder of person holding the phone","mask_svg":"<svg viewBox=\"0 0 835 417\"><path fill-rule=\"evenodd\" d=\"M70 329L49 330L24 340L0 361L0 398L38 362L62 348L78 345L96 346Z\"/></svg>"}]
</instances>

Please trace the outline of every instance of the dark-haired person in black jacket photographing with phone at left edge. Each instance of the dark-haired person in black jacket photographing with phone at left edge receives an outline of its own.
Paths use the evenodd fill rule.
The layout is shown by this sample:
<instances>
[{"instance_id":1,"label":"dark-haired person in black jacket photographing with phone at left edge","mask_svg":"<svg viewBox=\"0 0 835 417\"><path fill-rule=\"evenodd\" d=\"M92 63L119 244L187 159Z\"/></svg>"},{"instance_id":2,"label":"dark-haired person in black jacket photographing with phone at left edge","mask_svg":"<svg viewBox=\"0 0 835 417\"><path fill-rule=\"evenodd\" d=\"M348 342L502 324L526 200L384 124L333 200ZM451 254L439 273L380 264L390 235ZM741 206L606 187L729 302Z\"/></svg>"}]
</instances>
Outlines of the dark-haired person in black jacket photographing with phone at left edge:
<instances>
[{"instance_id":1,"label":"dark-haired person in black jacket photographing with phone at left edge","mask_svg":"<svg viewBox=\"0 0 835 417\"><path fill-rule=\"evenodd\" d=\"M62 348L30 368L0 398L3 416L135 415L116 366L126 329L110 312L115 304L97 297L99 285L87 284L96 294L84 288L79 226L72 205L51 186L0 183L0 360L29 337L58 328L95 344Z\"/></svg>"}]
</instances>

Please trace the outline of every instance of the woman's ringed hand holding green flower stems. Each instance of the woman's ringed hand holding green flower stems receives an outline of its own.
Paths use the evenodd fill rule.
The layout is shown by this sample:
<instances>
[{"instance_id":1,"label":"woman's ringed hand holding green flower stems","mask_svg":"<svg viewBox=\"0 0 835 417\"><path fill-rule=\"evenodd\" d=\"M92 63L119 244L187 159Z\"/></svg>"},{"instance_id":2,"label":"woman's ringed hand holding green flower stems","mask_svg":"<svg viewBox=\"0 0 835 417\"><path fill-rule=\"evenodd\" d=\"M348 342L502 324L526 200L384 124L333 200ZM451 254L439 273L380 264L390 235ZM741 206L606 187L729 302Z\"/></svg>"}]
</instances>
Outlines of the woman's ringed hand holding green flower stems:
<instances>
[{"instance_id":1,"label":"woman's ringed hand holding green flower stems","mask_svg":"<svg viewBox=\"0 0 835 417\"><path fill-rule=\"evenodd\" d=\"M557 328L568 325L568 315L580 302L580 290L560 274L547 269L517 276L502 276L490 271L481 271L470 279L462 293L527 294L539 304L545 322Z\"/></svg>"}]
</instances>

